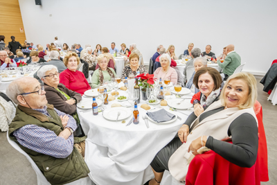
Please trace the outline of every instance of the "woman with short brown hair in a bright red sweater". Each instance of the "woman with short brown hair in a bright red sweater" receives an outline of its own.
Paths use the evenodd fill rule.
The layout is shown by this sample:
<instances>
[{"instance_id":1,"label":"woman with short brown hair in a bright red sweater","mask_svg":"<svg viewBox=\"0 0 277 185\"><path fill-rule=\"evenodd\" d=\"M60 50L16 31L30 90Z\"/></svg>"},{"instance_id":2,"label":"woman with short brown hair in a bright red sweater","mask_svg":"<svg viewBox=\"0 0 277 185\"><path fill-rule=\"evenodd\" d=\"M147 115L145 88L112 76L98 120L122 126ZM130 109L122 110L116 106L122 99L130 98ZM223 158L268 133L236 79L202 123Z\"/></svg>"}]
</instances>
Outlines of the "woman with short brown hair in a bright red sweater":
<instances>
[{"instance_id":1,"label":"woman with short brown hair in a bright red sweater","mask_svg":"<svg viewBox=\"0 0 277 185\"><path fill-rule=\"evenodd\" d=\"M91 89L91 87L84 77L84 73L77 71L79 63L80 58L76 53L67 53L64 57L64 65L67 69L60 73L60 83L65 85L66 88L83 95L84 91Z\"/></svg>"}]
</instances>

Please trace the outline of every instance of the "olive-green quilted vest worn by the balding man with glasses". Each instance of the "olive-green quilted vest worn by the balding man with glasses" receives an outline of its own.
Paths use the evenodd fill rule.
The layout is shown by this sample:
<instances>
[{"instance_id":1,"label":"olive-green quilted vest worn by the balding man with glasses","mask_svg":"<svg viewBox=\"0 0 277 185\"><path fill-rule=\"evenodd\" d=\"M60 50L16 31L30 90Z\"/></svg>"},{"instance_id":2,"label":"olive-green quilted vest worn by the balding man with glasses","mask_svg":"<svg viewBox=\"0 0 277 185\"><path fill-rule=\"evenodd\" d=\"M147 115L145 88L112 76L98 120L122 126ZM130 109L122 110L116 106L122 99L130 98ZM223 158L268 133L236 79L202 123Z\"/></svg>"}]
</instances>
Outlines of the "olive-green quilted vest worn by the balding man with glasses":
<instances>
[{"instance_id":1,"label":"olive-green quilted vest worn by the balding man with glasses","mask_svg":"<svg viewBox=\"0 0 277 185\"><path fill-rule=\"evenodd\" d=\"M21 105L18 105L15 118L12 120L12 123L10 123L8 130L10 139L17 142L17 139L15 136L13 136L12 133L25 125L37 125L39 127L45 127L48 130L52 130L57 135L60 134L60 132L64 130L62 121L53 109L53 105L47 104L46 106L47 112L52 118L28 107L22 107ZM74 143L84 141L84 139L85 137L74 138ZM18 145L33 159L33 161L35 161L35 164L37 164L39 170L42 171L48 182L51 184L67 184L82 177L87 177L89 173L87 164L84 162L82 155L75 147L73 147L73 152L71 152L71 155L61 159L35 152L25 148L24 146L21 146L19 143Z\"/></svg>"}]
</instances>

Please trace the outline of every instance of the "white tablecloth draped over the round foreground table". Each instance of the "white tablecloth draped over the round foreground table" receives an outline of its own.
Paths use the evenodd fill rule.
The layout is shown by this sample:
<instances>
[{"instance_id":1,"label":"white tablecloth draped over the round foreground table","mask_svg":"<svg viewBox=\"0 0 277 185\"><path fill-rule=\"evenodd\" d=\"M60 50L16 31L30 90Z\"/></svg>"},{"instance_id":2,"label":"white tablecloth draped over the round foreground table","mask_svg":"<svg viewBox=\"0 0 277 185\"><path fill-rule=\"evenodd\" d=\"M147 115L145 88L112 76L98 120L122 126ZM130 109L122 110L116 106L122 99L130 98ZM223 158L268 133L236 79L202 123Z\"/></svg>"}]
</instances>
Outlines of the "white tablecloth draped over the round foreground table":
<instances>
[{"instance_id":1,"label":"white tablecloth draped over the round foreground table","mask_svg":"<svg viewBox=\"0 0 277 185\"><path fill-rule=\"evenodd\" d=\"M126 95L125 91L119 91L120 96ZM191 96L191 94L190 94ZM172 96L172 98L175 98ZM83 98L85 99L85 98ZM91 98L89 98L91 99ZM109 102L118 103L117 100ZM107 121L102 113L93 116L92 112L80 112L78 115L84 133L87 134L87 146L85 161L91 173L89 177L100 185L129 185L144 184L153 176L150 163L154 156L169 143L177 134L179 127L186 121L188 116L172 112L181 117L174 123L156 124L149 122L150 128L145 126L142 115L146 111L139 104L140 121L138 125L118 121ZM151 106L152 107L152 106ZM168 110L170 107L163 107ZM170 111L171 112L171 111ZM190 114L188 111L182 111ZM126 118L126 122L129 121Z\"/></svg>"}]
</instances>

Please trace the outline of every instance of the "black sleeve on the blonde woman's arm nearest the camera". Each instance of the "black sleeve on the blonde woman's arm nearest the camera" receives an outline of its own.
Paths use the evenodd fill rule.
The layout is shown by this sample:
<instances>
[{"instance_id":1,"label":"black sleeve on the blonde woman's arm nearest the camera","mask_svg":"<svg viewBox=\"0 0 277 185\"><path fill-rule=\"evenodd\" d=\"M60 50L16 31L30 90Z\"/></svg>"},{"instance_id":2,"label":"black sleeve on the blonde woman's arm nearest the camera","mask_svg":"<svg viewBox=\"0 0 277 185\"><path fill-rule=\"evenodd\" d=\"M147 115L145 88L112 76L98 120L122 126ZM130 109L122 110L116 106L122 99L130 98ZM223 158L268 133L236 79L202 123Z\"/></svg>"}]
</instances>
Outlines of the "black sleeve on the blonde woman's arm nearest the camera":
<instances>
[{"instance_id":1,"label":"black sleeve on the blonde woman's arm nearest the camera","mask_svg":"<svg viewBox=\"0 0 277 185\"><path fill-rule=\"evenodd\" d=\"M232 136L233 144L209 136L206 147L235 165L251 168L256 162L258 153L256 119L249 113L238 116L231 123L228 134Z\"/></svg>"}]
</instances>

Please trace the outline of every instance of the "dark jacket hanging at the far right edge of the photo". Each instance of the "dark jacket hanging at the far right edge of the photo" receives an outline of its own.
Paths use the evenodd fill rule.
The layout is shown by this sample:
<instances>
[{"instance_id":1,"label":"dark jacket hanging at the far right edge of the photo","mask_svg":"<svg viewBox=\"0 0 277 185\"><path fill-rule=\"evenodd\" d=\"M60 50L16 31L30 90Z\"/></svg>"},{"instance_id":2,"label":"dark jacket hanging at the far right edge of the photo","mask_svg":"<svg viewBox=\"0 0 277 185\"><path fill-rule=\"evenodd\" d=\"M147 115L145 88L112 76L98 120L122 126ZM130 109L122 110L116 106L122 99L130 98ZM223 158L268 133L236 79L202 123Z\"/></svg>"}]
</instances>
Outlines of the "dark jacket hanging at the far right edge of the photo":
<instances>
[{"instance_id":1,"label":"dark jacket hanging at the far right edge of the photo","mask_svg":"<svg viewBox=\"0 0 277 185\"><path fill-rule=\"evenodd\" d=\"M268 92L269 90L274 89L274 86L277 82L277 63L274 63L269 68L269 71L265 74L264 78L260 80L260 83L264 85L264 89L262 89L265 92Z\"/></svg>"}]
</instances>

